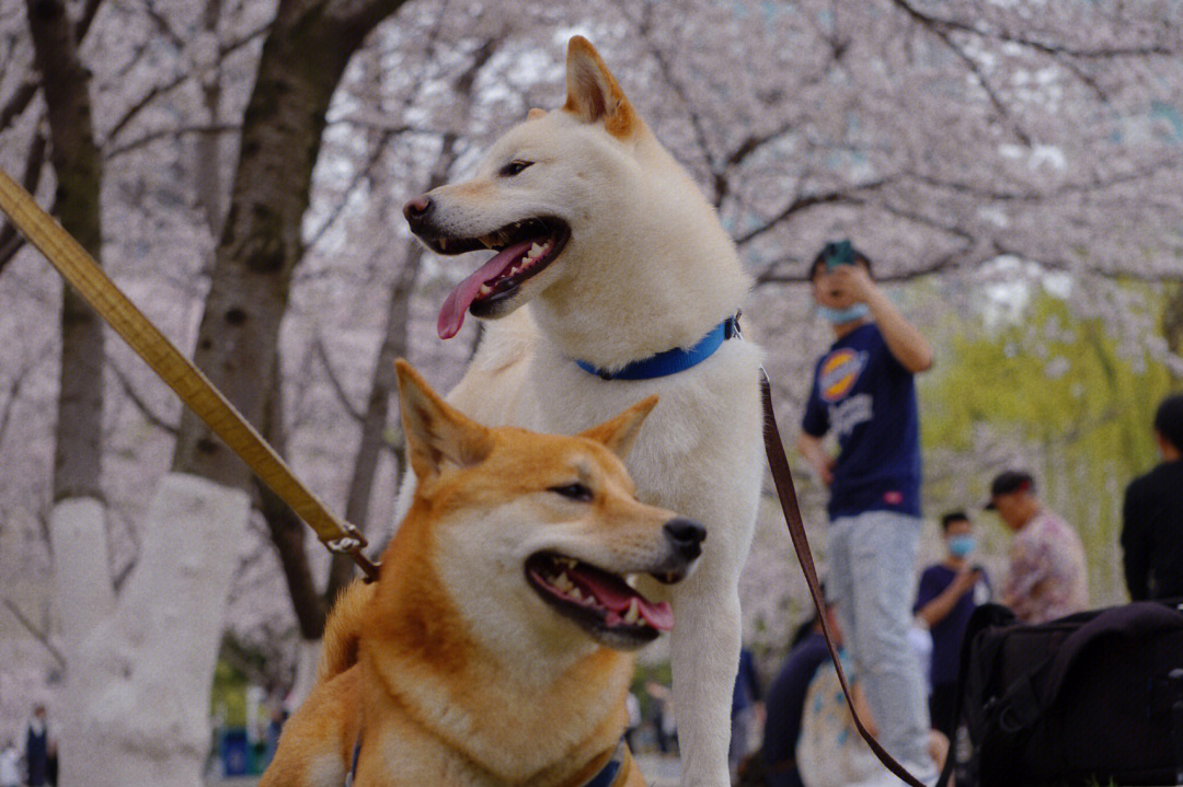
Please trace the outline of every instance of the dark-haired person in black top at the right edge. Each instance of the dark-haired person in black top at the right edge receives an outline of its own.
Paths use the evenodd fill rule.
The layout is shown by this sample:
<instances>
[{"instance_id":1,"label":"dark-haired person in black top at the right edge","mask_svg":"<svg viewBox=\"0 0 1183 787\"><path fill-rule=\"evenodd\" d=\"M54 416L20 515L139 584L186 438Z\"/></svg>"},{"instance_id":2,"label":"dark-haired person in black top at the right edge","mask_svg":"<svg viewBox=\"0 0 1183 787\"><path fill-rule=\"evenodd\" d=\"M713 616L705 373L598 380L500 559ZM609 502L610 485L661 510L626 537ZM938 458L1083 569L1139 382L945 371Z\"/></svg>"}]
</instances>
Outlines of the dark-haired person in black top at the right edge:
<instances>
[{"instance_id":1,"label":"dark-haired person in black top at the right edge","mask_svg":"<svg viewBox=\"0 0 1183 787\"><path fill-rule=\"evenodd\" d=\"M1155 414L1162 463L1130 482L1121 507L1125 584L1134 601L1183 598L1183 394Z\"/></svg>"}]
</instances>

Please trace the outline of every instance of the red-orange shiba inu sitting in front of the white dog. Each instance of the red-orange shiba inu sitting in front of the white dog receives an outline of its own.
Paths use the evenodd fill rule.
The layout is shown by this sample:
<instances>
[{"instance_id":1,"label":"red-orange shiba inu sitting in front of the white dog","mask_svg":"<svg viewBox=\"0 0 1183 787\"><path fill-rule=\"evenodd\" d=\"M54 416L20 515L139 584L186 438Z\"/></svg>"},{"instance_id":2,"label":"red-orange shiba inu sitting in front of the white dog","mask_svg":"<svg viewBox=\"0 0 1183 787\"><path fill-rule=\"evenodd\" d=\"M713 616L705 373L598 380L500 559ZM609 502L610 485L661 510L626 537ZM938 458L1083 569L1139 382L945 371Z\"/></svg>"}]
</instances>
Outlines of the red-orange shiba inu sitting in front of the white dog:
<instances>
[{"instance_id":1,"label":"red-orange shiba inu sitting in front of the white dog","mask_svg":"<svg viewBox=\"0 0 1183 787\"><path fill-rule=\"evenodd\" d=\"M568 437L474 423L405 362L399 389L414 500L261 787L642 786L627 651L673 619L629 583L680 581L705 538L619 458L657 397Z\"/></svg>"}]
</instances>

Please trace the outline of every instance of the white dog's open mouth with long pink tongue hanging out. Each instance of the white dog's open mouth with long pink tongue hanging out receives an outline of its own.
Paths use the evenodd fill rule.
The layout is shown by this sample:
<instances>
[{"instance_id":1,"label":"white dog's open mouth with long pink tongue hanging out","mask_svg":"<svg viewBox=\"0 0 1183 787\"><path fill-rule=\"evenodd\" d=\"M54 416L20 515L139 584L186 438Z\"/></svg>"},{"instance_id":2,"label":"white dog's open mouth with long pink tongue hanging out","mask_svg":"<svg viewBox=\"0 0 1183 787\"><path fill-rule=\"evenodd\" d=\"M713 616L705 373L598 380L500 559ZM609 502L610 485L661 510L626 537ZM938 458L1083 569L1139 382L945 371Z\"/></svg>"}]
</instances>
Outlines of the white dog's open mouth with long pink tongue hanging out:
<instances>
[{"instance_id":1,"label":"white dog's open mouth with long pink tongue hanging out","mask_svg":"<svg viewBox=\"0 0 1183 787\"><path fill-rule=\"evenodd\" d=\"M565 221L541 217L516 221L478 238L425 239L440 254L463 254L479 248L497 251L444 301L435 325L440 338L451 339L457 334L464 325L465 312L471 311L477 317L492 314L497 304L517 294L523 281L554 262L570 238L571 228Z\"/></svg>"}]
</instances>

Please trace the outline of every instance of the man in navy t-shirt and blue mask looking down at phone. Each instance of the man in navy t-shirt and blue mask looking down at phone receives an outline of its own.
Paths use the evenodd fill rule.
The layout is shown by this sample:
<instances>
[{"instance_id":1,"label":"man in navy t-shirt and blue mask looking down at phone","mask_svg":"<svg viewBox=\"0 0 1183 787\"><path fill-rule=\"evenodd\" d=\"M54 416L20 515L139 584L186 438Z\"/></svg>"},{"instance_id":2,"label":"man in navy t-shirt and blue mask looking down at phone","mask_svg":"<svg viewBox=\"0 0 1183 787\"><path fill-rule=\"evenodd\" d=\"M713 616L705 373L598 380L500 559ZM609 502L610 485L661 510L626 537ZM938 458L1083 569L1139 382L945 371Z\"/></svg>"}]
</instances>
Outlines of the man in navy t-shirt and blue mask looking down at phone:
<instances>
[{"instance_id":1,"label":"man in navy t-shirt and blue mask looking down at phone","mask_svg":"<svg viewBox=\"0 0 1183 787\"><path fill-rule=\"evenodd\" d=\"M929 672L932 692L929 715L932 727L953 740L957 729L957 671L962 639L974 610L990 598L990 580L968 559L974 551L974 525L964 512L955 510L940 518L948 555L920 574L916 594L916 614L932 633L932 666Z\"/></svg>"}]
</instances>

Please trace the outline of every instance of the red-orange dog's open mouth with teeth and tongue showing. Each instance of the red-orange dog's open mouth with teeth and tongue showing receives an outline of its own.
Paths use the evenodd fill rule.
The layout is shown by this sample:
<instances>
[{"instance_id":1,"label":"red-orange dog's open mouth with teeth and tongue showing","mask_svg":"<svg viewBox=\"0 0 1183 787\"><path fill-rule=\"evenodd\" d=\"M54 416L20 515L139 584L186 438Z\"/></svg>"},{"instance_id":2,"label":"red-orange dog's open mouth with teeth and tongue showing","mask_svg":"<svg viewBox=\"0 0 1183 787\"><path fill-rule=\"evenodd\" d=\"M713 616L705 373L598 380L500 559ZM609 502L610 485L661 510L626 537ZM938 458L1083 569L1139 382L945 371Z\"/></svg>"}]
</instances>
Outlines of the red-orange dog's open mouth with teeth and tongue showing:
<instances>
[{"instance_id":1,"label":"red-orange dog's open mouth with teeth and tongue showing","mask_svg":"<svg viewBox=\"0 0 1183 787\"><path fill-rule=\"evenodd\" d=\"M622 578L574 558L531 555L525 575L543 600L612 646L639 646L673 626L666 601L654 604Z\"/></svg>"}]
</instances>

